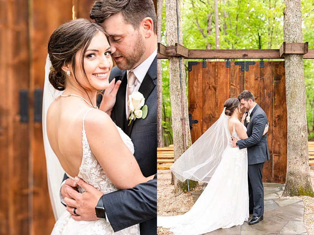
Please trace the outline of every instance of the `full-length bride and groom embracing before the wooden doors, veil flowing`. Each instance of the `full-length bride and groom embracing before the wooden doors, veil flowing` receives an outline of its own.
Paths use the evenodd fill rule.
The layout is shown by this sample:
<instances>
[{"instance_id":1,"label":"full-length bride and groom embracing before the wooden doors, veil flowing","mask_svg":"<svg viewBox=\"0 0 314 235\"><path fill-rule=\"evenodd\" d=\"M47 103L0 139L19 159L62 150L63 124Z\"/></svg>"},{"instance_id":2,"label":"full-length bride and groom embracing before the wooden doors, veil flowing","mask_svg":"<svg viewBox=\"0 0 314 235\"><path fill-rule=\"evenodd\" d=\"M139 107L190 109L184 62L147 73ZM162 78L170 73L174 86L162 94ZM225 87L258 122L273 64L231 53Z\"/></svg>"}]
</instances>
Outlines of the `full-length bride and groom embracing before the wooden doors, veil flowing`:
<instances>
[{"instance_id":1,"label":"full-length bride and groom embracing before the wooden doors, veil flowing","mask_svg":"<svg viewBox=\"0 0 314 235\"><path fill-rule=\"evenodd\" d=\"M245 113L240 121L241 108ZM269 160L268 120L250 91L229 98L219 119L171 166L182 182L208 182L183 215L157 217L157 226L174 234L198 235L263 220L262 170Z\"/></svg>"}]
</instances>

